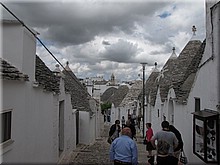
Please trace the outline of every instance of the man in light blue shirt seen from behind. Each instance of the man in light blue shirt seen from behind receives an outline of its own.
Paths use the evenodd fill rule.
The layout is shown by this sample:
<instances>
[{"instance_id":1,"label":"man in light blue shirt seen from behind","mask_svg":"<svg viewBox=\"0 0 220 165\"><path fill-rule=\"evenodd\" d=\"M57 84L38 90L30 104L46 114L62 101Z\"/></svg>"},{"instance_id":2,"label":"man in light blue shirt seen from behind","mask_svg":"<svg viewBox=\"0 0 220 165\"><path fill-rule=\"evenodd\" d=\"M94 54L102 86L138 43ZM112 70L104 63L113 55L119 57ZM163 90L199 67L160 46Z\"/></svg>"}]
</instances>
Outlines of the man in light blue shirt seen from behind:
<instances>
[{"instance_id":1,"label":"man in light blue shirt seen from behind","mask_svg":"<svg viewBox=\"0 0 220 165\"><path fill-rule=\"evenodd\" d=\"M116 138L110 146L110 160L114 165L137 165L138 151L135 141L131 139L131 129L122 129L121 136Z\"/></svg>"}]
</instances>

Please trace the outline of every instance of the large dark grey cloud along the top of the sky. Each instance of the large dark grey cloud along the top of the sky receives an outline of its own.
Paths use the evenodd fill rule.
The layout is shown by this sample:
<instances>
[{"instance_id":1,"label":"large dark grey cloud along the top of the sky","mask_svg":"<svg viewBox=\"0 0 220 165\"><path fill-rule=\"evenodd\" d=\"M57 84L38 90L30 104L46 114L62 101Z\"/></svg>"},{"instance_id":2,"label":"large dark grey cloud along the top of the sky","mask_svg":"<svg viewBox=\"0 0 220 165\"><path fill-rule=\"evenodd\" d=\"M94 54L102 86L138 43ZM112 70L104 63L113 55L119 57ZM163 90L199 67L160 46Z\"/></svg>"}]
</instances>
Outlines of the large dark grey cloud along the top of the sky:
<instances>
[{"instance_id":1,"label":"large dark grey cloud along the top of the sky","mask_svg":"<svg viewBox=\"0 0 220 165\"><path fill-rule=\"evenodd\" d=\"M168 2L8 2L20 19L33 28L47 28L40 32L47 40L61 45L89 42L95 36L112 33L117 27L125 33L135 30L140 16L152 15ZM5 12L4 12L5 13ZM5 15L3 13L3 15Z\"/></svg>"}]
</instances>

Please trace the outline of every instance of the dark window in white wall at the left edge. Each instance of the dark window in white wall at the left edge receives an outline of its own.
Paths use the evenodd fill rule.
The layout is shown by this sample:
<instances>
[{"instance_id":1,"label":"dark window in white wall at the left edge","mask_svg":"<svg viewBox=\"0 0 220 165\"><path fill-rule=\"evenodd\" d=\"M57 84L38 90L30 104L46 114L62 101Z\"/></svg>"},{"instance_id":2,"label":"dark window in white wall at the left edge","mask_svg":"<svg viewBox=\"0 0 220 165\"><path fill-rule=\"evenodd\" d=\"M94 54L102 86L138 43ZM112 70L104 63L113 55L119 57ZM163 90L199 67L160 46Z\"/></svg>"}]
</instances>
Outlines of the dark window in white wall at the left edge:
<instances>
[{"instance_id":1,"label":"dark window in white wall at the left edge","mask_svg":"<svg viewBox=\"0 0 220 165\"><path fill-rule=\"evenodd\" d=\"M11 111L1 113L1 143L11 139Z\"/></svg>"}]
</instances>

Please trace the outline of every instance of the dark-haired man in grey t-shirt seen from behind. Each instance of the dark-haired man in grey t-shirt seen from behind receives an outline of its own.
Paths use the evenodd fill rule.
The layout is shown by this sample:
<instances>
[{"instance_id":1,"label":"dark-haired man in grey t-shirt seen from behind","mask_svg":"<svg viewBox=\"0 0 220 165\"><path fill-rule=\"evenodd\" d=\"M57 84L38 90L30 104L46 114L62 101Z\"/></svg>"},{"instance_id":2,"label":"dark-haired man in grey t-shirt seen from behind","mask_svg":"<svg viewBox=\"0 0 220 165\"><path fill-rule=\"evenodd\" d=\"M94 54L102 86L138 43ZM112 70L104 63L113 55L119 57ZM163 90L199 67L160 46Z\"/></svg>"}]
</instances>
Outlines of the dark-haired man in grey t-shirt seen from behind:
<instances>
[{"instance_id":1,"label":"dark-haired man in grey t-shirt seen from behind","mask_svg":"<svg viewBox=\"0 0 220 165\"><path fill-rule=\"evenodd\" d=\"M157 132L151 139L151 143L155 147L155 140L165 140L169 145L169 154L173 155L174 154L174 148L177 147L178 145L178 140L173 132L169 130L169 122L168 121L163 121L161 123L162 130Z\"/></svg>"}]
</instances>

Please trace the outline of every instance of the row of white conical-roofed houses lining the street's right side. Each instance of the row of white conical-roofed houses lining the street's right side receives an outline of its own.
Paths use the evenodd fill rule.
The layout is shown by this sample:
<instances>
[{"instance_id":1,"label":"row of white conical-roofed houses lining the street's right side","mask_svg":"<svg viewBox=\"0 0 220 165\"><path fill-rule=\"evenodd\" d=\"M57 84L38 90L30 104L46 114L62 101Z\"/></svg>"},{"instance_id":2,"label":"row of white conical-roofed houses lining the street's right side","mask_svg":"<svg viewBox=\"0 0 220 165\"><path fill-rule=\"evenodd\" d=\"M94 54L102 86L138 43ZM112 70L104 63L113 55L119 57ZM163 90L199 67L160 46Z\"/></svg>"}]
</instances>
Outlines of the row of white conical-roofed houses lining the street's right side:
<instances>
[{"instance_id":1,"label":"row of white conical-roofed houses lining the street's right side","mask_svg":"<svg viewBox=\"0 0 220 165\"><path fill-rule=\"evenodd\" d=\"M219 163L219 157L216 162L219 155L217 126L214 127L217 129L214 139L218 142L215 141L213 146L207 145L207 148L201 147L200 151L194 150L197 133L193 129L195 114L205 114L204 110L208 109L211 110L209 114L217 116L220 111L219 12L219 1L206 1L206 40L202 43L193 36L178 57L172 54L161 72L152 72L146 82L148 120L152 122L153 130L161 130L163 120L173 124L182 134L184 151L190 164ZM195 32L195 27L193 30ZM210 135L201 138L200 144L206 145L208 137ZM207 160L203 160L205 157L208 157Z\"/></svg>"}]
</instances>

